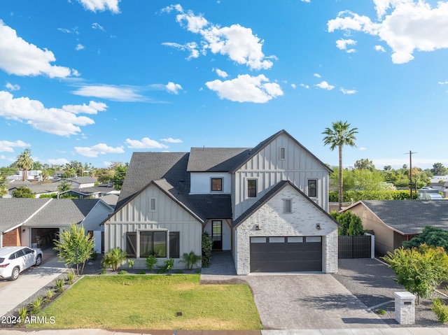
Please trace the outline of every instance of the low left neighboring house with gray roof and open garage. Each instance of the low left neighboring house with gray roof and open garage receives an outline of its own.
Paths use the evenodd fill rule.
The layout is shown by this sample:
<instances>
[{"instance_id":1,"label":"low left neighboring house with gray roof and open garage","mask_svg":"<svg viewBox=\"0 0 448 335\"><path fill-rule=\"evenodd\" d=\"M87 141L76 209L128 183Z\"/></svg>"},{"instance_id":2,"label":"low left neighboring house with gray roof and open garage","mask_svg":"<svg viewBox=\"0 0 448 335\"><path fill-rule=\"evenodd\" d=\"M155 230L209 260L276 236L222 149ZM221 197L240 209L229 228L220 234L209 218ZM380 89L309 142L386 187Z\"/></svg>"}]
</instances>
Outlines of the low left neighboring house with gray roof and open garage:
<instances>
[{"instance_id":1,"label":"low left neighboring house with gray roof and open garage","mask_svg":"<svg viewBox=\"0 0 448 335\"><path fill-rule=\"evenodd\" d=\"M52 248L62 229L81 224L93 234L111 213L101 199L0 199L0 247ZM101 248L100 241L95 244Z\"/></svg>"}]
</instances>

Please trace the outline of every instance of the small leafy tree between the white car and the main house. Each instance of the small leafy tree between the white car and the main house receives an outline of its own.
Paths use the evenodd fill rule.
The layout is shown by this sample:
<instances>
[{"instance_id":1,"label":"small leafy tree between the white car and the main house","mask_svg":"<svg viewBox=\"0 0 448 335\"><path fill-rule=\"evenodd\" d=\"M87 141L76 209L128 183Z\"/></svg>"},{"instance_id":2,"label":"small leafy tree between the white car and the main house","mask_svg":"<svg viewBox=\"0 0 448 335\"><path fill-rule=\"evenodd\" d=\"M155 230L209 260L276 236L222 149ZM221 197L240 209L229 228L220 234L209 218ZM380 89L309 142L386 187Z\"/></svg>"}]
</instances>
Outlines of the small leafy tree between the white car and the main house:
<instances>
[{"instance_id":1,"label":"small leafy tree between the white car and the main house","mask_svg":"<svg viewBox=\"0 0 448 335\"><path fill-rule=\"evenodd\" d=\"M92 257L93 239L85 235L84 227L72 224L69 229L64 229L55 239L55 250L64 260L67 267L76 265L76 274L83 274L85 262ZM81 268L80 265L82 264Z\"/></svg>"}]
</instances>

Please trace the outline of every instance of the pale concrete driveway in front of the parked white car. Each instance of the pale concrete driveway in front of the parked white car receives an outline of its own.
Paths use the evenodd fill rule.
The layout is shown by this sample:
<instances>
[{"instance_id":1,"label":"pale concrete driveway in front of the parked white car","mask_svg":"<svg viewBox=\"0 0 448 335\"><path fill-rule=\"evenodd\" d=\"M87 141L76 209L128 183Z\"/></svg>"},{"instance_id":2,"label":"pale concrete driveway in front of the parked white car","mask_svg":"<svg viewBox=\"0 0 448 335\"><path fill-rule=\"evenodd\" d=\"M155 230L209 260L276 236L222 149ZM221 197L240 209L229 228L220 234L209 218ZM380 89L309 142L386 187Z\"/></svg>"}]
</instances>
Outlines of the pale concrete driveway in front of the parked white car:
<instances>
[{"instance_id":1,"label":"pale concrete driveway in front of the parked white car","mask_svg":"<svg viewBox=\"0 0 448 335\"><path fill-rule=\"evenodd\" d=\"M66 271L64 263L59 262L59 257L52 257L41 266L21 273L17 280L0 289L0 315L13 310ZM0 334L2 332L0 328Z\"/></svg>"}]
</instances>

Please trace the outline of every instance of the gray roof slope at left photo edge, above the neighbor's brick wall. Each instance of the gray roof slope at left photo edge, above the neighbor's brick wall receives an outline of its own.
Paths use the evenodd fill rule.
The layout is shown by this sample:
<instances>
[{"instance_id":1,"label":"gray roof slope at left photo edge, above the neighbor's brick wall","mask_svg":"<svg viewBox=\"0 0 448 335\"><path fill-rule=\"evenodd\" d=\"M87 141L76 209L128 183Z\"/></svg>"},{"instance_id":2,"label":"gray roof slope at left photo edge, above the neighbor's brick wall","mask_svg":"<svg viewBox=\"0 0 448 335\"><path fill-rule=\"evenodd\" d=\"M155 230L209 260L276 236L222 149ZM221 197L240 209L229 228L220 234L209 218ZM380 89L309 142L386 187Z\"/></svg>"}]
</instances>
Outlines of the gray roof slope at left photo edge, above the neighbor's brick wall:
<instances>
[{"instance_id":1,"label":"gray roof slope at left photo edge, above the neighbor's brick wall","mask_svg":"<svg viewBox=\"0 0 448 335\"><path fill-rule=\"evenodd\" d=\"M50 199L0 198L0 231L23 223Z\"/></svg>"}]
</instances>

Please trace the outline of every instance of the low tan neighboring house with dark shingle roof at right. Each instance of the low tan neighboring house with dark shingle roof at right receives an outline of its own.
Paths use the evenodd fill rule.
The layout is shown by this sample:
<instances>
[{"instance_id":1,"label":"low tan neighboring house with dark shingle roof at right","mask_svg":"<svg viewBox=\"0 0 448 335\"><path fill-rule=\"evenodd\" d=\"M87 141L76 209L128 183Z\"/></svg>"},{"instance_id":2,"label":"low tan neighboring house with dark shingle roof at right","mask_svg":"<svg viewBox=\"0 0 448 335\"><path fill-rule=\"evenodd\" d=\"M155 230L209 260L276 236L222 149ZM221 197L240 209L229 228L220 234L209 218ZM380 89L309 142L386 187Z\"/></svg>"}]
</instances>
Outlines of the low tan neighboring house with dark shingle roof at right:
<instances>
[{"instance_id":1,"label":"low tan neighboring house with dark shingle roof at right","mask_svg":"<svg viewBox=\"0 0 448 335\"><path fill-rule=\"evenodd\" d=\"M375 251L393 252L426 226L448 229L448 201L361 200L344 208L358 215L375 236Z\"/></svg>"}]
</instances>

